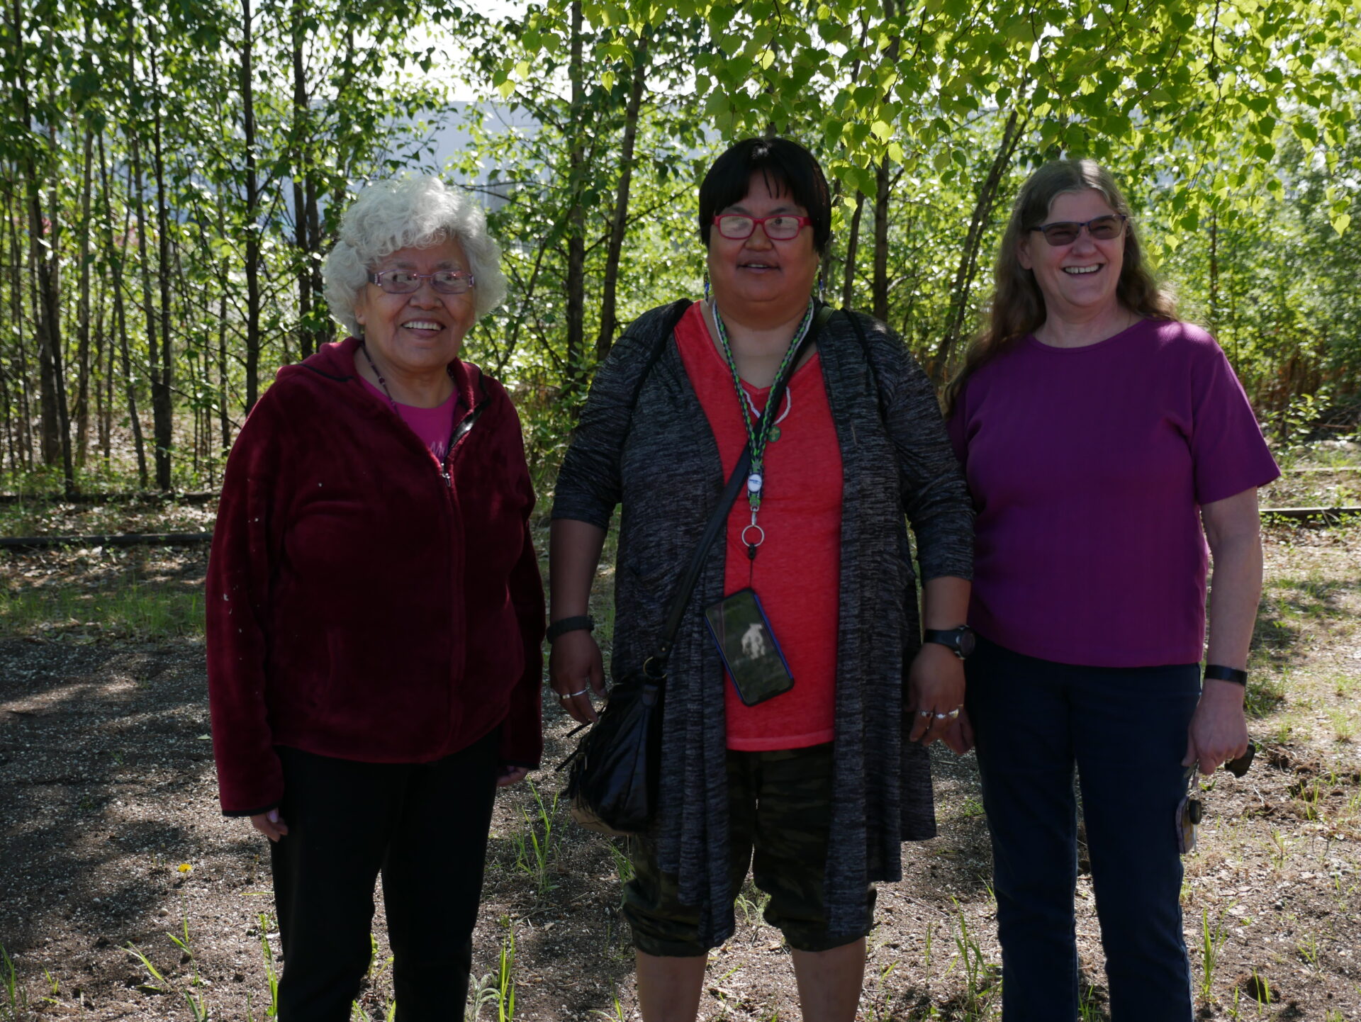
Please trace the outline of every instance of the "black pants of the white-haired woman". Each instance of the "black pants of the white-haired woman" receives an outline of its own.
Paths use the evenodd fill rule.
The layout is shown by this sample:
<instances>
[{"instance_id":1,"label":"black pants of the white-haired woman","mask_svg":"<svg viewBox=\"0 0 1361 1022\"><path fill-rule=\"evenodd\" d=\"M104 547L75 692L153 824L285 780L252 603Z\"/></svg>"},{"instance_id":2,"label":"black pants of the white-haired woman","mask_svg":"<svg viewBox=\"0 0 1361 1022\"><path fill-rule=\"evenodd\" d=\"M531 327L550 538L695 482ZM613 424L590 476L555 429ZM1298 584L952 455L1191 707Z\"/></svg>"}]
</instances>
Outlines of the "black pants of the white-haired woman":
<instances>
[{"instance_id":1,"label":"black pants of the white-haired woman","mask_svg":"<svg viewBox=\"0 0 1361 1022\"><path fill-rule=\"evenodd\" d=\"M289 825L271 846L282 1022L350 1018L380 872L399 1022L463 1018L497 750L498 731L433 763L278 750Z\"/></svg>"}]
</instances>

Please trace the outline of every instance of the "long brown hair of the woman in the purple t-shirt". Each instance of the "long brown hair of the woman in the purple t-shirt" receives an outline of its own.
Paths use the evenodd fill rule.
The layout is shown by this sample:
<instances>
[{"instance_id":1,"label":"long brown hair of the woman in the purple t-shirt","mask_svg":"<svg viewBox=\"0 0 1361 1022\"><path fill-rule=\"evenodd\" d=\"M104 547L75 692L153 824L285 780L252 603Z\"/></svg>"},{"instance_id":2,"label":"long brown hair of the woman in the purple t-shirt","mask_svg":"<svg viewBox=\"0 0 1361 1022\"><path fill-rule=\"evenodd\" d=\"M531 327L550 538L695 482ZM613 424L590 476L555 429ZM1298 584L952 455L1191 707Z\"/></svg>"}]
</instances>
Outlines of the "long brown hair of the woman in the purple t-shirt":
<instances>
[{"instance_id":1,"label":"long brown hair of the woman in the purple t-shirt","mask_svg":"<svg viewBox=\"0 0 1361 1022\"><path fill-rule=\"evenodd\" d=\"M1045 163L1021 185L1021 192L1011 207L1011 219L998 248L988 323L969 346L964 366L946 388L946 415L954 411L954 404L970 376L1044 323L1044 295L1034 282L1034 274L1021 265L1018 250L1026 234L1044 223L1055 199L1087 188L1100 192L1113 212L1128 218L1124 229L1124 265L1116 284L1116 298L1120 305L1149 318L1175 318L1176 302L1172 293L1153 276L1143 257L1139 229L1130 212L1130 204L1111 171L1094 159L1056 159Z\"/></svg>"}]
</instances>

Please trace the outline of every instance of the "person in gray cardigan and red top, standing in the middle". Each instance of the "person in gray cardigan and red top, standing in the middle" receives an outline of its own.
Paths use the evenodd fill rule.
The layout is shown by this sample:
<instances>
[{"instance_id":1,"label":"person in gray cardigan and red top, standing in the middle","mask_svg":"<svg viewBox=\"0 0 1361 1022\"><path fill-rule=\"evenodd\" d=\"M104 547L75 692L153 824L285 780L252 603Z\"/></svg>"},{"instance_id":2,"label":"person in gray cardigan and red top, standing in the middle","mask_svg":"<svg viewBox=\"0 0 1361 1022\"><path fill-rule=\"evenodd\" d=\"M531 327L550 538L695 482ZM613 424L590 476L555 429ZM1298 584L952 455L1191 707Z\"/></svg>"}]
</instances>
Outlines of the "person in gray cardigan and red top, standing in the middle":
<instances>
[{"instance_id":1,"label":"person in gray cardigan and red top, standing in the middle","mask_svg":"<svg viewBox=\"0 0 1361 1022\"><path fill-rule=\"evenodd\" d=\"M646 1022L694 1019L753 851L803 1018L849 1022L872 885L900 879L901 841L935 833L925 746L955 733L964 701L968 497L902 343L868 317L818 314L830 225L803 147L749 139L719 156L700 186L712 294L644 313L619 337L558 476L550 679L588 721L604 691L588 599L615 506L622 678L656 648L724 482L753 453L668 659L657 819L630 842L623 913ZM769 408L777 378L788 386ZM728 663L769 650L768 627L792 687L729 675L709 634L708 610L757 603L768 626L747 622Z\"/></svg>"}]
</instances>

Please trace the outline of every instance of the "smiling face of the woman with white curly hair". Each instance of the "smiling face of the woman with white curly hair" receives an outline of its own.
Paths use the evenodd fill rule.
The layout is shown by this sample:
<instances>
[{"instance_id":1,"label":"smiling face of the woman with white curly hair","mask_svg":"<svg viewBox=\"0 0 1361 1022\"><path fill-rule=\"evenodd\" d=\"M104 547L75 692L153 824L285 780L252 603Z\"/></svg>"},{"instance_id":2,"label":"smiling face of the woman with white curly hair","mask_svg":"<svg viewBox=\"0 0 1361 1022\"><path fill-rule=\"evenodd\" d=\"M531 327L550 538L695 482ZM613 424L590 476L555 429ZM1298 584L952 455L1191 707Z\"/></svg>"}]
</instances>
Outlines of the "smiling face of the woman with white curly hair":
<instances>
[{"instance_id":1,"label":"smiling face of the woman with white curly hair","mask_svg":"<svg viewBox=\"0 0 1361 1022\"><path fill-rule=\"evenodd\" d=\"M433 274L437 269L468 268L457 240L429 248L397 249L374 272L410 269ZM438 294L429 280L411 294L388 294L366 283L354 305L355 320L363 327L369 352L388 374L437 377L459 357L463 336L476 317L476 293Z\"/></svg>"}]
</instances>

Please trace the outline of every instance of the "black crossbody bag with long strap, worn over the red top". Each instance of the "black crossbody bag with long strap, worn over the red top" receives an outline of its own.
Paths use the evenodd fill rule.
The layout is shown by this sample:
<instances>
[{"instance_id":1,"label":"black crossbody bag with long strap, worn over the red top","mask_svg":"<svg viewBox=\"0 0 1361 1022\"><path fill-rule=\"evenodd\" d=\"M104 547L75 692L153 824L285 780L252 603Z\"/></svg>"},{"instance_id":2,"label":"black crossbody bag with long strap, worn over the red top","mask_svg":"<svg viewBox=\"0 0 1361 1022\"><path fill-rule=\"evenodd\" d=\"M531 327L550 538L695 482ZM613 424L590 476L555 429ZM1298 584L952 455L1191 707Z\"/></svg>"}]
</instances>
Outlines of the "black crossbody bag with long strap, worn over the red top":
<instances>
[{"instance_id":1,"label":"black crossbody bag with long strap, worn over the red top","mask_svg":"<svg viewBox=\"0 0 1361 1022\"><path fill-rule=\"evenodd\" d=\"M811 344L822 327L830 318L826 306L818 310L808 333L799 346L799 352L788 376L799 365L803 352ZM674 328L672 328L674 329ZM671 331L666 337L670 339ZM666 340L663 340L663 346ZM660 348L659 348L660 351ZM656 355L649 359L644 376L651 370ZM776 381L766 399L766 408L778 408L784 399L788 376ZM638 384L641 391L642 384ZM728 523L728 512L738 494L744 489L747 469L751 467L751 445L742 449L738 467L728 478L728 484L719 497L709 521L704 527L686 566L685 574L671 597L671 608L661 629L661 641L656 652L641 667L630 671L610 689L608 701L600 712L600 719L581 738L576 751L558 765L558 770L570 766L568 773L568 804L572 818L588 830L603 834L645 834L657 810L657 781L661 766L661 714L666 698L667 659L675 646L680 621L694 592L704 559L715 539ZM585 725L583 725L585 727ZM577 728L580 731L581 728ZM573 732L576 733L576 732Z\"/></svg>"}]
</instances>

